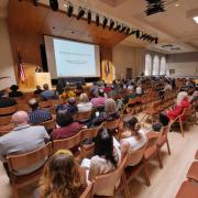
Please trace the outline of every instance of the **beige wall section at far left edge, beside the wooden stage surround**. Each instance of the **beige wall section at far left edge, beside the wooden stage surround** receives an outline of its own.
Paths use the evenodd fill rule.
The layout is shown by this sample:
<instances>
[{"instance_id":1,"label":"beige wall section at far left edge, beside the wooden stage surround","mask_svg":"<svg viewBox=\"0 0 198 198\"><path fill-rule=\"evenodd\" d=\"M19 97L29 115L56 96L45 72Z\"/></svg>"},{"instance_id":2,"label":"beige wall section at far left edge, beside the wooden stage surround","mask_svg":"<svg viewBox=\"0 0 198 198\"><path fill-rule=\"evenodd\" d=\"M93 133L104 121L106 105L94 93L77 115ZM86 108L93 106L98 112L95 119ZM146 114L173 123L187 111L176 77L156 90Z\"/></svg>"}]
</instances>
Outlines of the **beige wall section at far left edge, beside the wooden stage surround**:
<instances>
[{"instance_id":1,"label":"beige wall section at far left edge, beside the wooden stage surround","mask_svg":"<svg viewBox=\"0 0 198 198\"><path fill-rule=\"evenodd\" d=\"M15 74L6 19L0 19L0 90L15 84ZM1 79L2 77L9 77Z\"/></svg>"}]
</instances>

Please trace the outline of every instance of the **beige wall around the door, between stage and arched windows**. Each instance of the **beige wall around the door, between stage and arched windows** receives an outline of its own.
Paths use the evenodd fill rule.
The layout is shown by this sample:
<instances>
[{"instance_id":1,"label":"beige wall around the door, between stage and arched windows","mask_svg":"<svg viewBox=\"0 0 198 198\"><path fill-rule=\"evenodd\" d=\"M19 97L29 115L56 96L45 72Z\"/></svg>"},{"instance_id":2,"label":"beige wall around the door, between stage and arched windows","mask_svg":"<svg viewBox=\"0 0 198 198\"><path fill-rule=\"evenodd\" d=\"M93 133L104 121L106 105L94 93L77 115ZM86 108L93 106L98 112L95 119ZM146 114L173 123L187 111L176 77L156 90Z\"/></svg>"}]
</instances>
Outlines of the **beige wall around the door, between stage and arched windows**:
<instances>
[{"instance_id":1,"label":"beige wall around the door, between stage and arched windows","mask_svg":"<svg viewBox=\"0 0 198 198\"><path fill-rule=\"evenodd\" d=\"M125 45L116 45L112 51L116 78L125 78L127 68L133 69L133 77L144 70L144 50Z\"/></svg>"}]
</instances>

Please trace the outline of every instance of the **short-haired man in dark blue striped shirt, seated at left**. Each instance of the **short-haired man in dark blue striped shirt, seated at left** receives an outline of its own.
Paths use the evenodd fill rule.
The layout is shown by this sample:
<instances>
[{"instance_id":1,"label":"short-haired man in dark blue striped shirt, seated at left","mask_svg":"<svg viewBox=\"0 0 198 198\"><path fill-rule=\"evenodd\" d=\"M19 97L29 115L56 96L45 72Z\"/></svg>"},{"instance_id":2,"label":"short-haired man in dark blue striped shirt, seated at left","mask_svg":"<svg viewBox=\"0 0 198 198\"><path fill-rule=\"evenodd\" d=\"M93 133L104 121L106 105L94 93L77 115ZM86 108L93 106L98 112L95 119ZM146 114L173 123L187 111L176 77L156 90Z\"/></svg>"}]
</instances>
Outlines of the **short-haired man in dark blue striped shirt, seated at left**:
<instances>
[{"instance_id":1,"label":"short-haired man in dark blue striped shirt, seated at left","mask_svg":"<svg viewBox=\"0 0 198 198\"><path fill-rule=\"evenodd\" d=\"M29 106L32 109L32 111L29 113L31 123L37 124L52 120L52 114L48 111L38 109L38 101L35 98L29 100Z\"/></svg>"}]
</instances>

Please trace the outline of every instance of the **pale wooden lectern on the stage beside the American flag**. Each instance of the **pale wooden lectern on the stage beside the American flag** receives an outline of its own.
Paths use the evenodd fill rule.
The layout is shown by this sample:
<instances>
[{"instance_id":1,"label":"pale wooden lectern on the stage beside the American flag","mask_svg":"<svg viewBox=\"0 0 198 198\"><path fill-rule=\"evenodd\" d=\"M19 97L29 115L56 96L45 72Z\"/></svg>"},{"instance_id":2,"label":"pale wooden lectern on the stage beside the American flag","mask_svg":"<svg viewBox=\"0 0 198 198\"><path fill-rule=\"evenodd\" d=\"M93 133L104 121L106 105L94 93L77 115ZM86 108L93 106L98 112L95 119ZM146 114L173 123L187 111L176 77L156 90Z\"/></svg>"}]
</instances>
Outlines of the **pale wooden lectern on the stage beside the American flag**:
<instances>
[{"instance_id":1,"label":"pale wooden lectern on the stage beside the American flag","mask_svg":"<svg viewBox=\"0 0 198 198\"><path fill-rule=\"evenodd\" d=\"M48 84L48 88L52 89L51 74L35 73L35 85L43 87L44 84Z\"/></svg>"}]
</instances>

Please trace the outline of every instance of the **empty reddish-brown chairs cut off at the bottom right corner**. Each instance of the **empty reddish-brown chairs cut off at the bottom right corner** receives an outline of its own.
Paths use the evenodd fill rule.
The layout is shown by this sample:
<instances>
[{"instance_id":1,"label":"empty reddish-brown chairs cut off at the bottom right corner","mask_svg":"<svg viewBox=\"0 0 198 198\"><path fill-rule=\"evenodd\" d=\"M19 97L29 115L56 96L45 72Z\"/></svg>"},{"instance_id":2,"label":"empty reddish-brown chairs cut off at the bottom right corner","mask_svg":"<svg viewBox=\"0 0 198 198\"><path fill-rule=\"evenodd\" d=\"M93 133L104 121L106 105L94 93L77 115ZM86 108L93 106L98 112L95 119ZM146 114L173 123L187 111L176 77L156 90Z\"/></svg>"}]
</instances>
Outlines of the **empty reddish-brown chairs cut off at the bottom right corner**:
<instances>
[{"instance_id":1,"label":"empty reddish-brown chairs cut off at the bottom right corner","mask_svg":"<svg viewBox=\"0 0 198 198\"><path fill-rule=\"evenodd\" d=\"M198 151L195 156L185 180L179 190L177 191L176 198L197 198L198 197Z\"/></svg>"}]
</instances>

